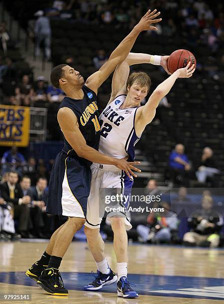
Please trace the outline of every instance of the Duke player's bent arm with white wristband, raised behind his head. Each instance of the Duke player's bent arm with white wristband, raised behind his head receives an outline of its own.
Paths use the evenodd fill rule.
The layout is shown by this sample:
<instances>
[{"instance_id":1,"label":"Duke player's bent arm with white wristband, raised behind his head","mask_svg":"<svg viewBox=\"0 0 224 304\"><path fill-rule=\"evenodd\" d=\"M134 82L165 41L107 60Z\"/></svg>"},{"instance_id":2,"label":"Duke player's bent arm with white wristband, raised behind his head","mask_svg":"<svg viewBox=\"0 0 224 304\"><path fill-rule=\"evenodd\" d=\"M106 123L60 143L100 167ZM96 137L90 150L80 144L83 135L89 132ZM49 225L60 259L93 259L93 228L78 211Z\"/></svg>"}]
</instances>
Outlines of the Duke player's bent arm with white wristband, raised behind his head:
<instances>
[{"instance_id":1,"label":"Duke player's bent arm with white wristband, raised behind his head","mask_svg":"<svg viewBox=\"0 0 224 304\"><path fill-rule=\"evenodd\" d=\"M164 70L170 74L167 70L167 59L169 56L154 56L142 53L129 53L126 59L120 63L112 78L112 94L108 104L119 94L124 94L126 92L126 81L129 76L129 66L137 64L156 64L161 65Z\"/></svg>"}]
</instances>

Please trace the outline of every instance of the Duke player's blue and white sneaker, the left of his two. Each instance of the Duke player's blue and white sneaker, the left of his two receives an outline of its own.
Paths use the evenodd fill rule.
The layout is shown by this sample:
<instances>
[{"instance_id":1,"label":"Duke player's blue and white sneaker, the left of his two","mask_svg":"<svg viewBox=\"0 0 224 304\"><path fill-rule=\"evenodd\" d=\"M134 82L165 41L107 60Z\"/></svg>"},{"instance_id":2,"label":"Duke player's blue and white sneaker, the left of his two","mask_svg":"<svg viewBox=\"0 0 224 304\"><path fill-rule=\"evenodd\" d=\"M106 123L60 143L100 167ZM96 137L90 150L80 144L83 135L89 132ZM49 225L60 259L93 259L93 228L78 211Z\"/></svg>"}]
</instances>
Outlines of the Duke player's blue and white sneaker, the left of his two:
<instances>
[{"instance_id":1,"label":"Duke player's blue and white sneaker, the left of his two","mask_svg":"<svg viewBox=\"0 0 224 304\"><path fill-rule=\"evenodd\" d=\"M96 274L92 271L92 274L95 277L95 280L92 283L84 286L84 290L86 290L86 291L99 290L104 285L110 285L110 284L116 282L116 280L117 280L117 276L111 270L111 268L110 268L109 274L107 274L107 275L100 272L99 270L97 271Z\"/></svg>"}]
</instances>

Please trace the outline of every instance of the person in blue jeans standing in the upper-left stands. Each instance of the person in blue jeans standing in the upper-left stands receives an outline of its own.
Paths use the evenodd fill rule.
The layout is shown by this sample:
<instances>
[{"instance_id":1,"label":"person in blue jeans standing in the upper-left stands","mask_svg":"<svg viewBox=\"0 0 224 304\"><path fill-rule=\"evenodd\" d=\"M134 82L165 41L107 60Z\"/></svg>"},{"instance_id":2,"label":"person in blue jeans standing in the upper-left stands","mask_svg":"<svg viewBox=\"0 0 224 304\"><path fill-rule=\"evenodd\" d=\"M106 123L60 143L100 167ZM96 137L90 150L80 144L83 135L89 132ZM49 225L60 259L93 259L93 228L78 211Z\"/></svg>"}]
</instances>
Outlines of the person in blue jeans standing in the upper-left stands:
<instances>
[{"instance_id":1,"label":"person in blue jeans standing in the upper-left stands","mask_svg":"<svg viewBox=\"0 0 224 304\"><path fill-rule=\"evenodd\" d=\"M63 2L63 1L60 1ZM51 26L47 16L44 16L43 10L38 10L34 16L38 16L35 26L35 56L40 56L40 45L43 44L44 56L47 60L51 59Z\"/></svg>"}]
</instances>

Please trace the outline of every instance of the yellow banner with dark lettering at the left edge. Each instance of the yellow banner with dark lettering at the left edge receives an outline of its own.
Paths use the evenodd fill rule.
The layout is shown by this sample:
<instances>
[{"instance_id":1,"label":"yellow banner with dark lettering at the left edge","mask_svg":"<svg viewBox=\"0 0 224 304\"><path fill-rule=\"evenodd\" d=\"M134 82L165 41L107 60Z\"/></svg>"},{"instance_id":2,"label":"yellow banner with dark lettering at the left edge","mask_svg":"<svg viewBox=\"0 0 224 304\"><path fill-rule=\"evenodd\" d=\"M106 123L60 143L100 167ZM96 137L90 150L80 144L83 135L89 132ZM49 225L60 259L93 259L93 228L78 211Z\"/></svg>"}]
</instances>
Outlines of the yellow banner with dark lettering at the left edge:
<instances>
[{"instance_id":1,"label":"yellow banner with dark lettering at the left edge","mask_svg":"<svg viewBox=\"0 0 224 304\"><path fill-rule=\"evenodd\" d=\"M29 123L29 107L0 104L0 146L27 147Z\"/></svg>"}]
</instances>

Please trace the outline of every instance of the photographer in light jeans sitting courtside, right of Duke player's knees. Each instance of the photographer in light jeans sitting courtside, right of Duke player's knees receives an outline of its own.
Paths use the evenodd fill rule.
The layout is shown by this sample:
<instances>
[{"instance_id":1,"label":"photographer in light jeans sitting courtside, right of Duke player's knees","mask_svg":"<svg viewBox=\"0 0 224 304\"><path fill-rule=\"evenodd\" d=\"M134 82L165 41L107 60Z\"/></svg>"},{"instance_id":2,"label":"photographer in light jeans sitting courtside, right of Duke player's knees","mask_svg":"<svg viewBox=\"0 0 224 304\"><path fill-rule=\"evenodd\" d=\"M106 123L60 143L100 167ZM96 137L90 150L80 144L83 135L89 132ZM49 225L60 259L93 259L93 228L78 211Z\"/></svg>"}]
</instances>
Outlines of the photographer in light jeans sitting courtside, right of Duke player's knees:
<instances>
[{"instance_id":1,"label":"photographer in light jeans sitting courtside, right of Duke player's knees","mask_svg":"<svg viewBox=\"0 0 224 304\"><path fill-rule=\"evenodd\" d=\"M140 240L144 243L170 242L173 237L177 239L178 219L177 215L170 211L167 202L162 202L164 212L160 214L151 213L147 218L147 225L139 225L137 232Z\"/></svg>"}]
</instances>

